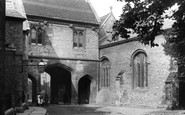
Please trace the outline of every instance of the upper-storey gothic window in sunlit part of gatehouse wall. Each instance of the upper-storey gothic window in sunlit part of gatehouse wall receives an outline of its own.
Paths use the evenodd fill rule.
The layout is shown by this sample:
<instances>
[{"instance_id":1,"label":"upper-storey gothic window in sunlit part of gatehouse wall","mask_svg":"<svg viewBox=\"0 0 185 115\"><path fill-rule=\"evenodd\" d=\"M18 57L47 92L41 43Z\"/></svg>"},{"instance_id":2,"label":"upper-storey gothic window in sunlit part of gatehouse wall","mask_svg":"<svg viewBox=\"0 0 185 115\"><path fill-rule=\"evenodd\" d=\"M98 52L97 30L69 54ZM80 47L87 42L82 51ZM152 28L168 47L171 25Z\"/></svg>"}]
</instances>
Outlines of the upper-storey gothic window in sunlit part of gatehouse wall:
<instances>
[{"instance_id":1,"label":"upper-storey gothic window in sunlit part of gatehouse wall","mask_svg":"<svg viewBox=\"0 0 185 115\"><path fill-rule=\"evenodd\" d=\"M81 49L85 47L85 30L83 29L73 30L73 47Z\"/></svg>"}]
</instances>

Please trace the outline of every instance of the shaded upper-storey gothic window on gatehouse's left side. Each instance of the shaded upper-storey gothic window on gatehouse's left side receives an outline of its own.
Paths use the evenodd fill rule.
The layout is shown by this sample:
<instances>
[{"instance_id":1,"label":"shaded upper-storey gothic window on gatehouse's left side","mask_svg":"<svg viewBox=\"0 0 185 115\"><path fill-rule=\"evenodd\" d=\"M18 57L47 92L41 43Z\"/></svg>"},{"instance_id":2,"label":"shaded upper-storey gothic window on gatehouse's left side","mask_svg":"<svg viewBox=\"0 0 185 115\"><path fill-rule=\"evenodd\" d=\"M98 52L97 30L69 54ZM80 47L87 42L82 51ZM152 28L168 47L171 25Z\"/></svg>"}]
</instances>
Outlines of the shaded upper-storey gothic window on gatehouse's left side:
<instances>
[{"instance_id":1,"label":"shaded upper-storey gothic window on gatehouse's left side","mask_svg":"<svg viewBox=\"0 0 185 115\"><path fill-rule=\"evenodd\" d=\"M42 27L38 25L31 25L30 31L31 43L33 44L42 44L43 39L43 30Z\"/></svg>"}]
</instances>

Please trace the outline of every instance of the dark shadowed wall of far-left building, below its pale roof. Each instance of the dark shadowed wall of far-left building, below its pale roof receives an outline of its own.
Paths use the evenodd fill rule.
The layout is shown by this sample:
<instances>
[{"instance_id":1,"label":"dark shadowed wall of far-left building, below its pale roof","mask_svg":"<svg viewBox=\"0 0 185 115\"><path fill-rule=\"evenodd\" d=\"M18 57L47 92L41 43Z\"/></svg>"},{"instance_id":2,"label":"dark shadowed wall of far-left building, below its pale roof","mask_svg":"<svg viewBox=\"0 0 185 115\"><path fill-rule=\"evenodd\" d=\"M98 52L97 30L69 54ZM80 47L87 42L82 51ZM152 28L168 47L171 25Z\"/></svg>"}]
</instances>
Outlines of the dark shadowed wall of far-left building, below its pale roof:
<instances>
[{"instance_id":1,"label":"dark shadowed wall of far-left building, below its pale roof","mask_svg":"<svg viewBox=\"0 0 185 115\"><path fill-rule=\"evenodd\" d=\"M6 93L11 97L11 106L21 106L23 100L23 91L26 90L27 85L24 84L23 79L24 70L22 63L23 56L23 20L16 18L8 18L6 20L6 75L8 81L6 82ZM11 88L12 87L12 88Z\"/></svg>"}]
</instances>

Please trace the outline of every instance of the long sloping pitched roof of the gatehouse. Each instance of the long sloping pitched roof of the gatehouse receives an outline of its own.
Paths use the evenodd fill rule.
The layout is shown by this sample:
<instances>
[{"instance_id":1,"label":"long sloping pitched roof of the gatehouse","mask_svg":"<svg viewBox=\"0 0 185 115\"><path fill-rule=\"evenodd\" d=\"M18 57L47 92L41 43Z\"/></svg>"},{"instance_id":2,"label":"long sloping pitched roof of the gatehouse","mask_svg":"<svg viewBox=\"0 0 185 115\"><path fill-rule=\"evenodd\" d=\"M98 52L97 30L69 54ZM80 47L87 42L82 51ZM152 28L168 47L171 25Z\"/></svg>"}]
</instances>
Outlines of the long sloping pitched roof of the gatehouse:
<instances>
[{"instance_id":1,"label":"long sloping pitched roof of the gatehouse","mask_svg":"<svg viewBox=\"0 0 185 115\"><path fill-rule=\"evenodd\" d=\"M27 15L99 24L85 0L23 0Z\"/></svg>"}]
</instances>

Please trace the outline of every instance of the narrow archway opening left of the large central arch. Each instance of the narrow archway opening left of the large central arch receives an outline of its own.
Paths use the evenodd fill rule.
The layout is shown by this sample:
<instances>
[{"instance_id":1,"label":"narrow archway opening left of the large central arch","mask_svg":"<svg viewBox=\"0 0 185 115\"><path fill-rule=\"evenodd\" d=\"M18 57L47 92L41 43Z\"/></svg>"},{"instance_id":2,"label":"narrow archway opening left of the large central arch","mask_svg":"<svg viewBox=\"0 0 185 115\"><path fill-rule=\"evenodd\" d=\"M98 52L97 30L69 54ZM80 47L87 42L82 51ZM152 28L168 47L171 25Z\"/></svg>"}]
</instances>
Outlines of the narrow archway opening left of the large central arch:
<instances>
[{"instance_id":1,"label":"narrow archway opening left of the large central arch","mask_svg":"<svg viewBox=\"0 0 185 115\"><path fill-rule=\"evenodd\" d=\"M28 103L36 105L37 103L37 81L34 76L28 74Z\"/></svg>"}]
</instances>

